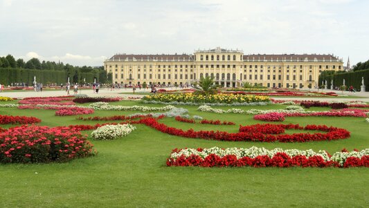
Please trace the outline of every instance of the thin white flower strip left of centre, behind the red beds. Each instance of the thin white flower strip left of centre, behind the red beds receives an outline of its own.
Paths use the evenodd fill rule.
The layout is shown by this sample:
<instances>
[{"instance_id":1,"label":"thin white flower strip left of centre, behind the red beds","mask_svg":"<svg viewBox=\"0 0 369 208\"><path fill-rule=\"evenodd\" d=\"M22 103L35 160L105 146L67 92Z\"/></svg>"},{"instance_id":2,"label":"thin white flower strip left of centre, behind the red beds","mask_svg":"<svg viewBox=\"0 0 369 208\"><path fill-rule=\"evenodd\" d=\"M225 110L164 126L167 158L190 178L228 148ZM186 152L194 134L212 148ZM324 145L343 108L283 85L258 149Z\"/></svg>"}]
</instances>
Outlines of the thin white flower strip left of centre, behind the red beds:
<instances>
[{"instance_id":1,"label":"thin white flower strip left of centre, behind the red beds","mask_svg":"<svg viewBox=\"0 0 369 208\"><path fill-rule=\"evenodd\" d=\"M164 107L147 107L143 105L132 105L132 106L109 105L109 103L105 102L92 103L89 105L89 107L93 108L93 110L118 110L118 111L139 110L142 112L167 111L175 108L173 105L166 105Z\"/></svg>"}]
</instances>

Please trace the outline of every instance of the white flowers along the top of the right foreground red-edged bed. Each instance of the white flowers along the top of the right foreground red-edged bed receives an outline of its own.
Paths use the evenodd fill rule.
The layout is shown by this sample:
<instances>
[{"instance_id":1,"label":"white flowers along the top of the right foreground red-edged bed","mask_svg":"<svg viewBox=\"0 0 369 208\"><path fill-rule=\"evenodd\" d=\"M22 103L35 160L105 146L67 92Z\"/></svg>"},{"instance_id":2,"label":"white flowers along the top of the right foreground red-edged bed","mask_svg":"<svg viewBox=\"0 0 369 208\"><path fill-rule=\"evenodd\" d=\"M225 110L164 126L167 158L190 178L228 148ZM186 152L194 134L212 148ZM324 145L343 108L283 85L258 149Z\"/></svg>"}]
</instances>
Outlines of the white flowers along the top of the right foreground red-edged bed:
<instances>
[{"instance_id":1,"label":"white flowers along the top of the right foreground red-edged bed","mask_svg":"<svg viewBox=\"0 0 369 208\"><path fill-rule=\"evenodd\" d=\"M255 158L262 155L267 155L269 157L273 157L276 155L276 153L286 153L289 155L289 157L295 157L298 155L305 155L305 157L313 157L313 156L321 156L325 162L332 161L332 162L338 162L341 166L345 163L346 159L348 157L357 157L361 158L364 155L369 155L369 148L366 148L364 150L361 150L359 152L357 151L351 151L348 153L342 153L342 152L336 152L332 155L332 157L329 157L327 152L325 150L319 150L318 152L315 152L312 149L309 150L297 150L297 149L290 149L290 150L283 150L282 148L275 148L273 150L267 150L266 148L258 148L255 146L252 146L251 148L208 148L204 149L201 152L188 148L183 149L179 151L179 153L172 153L170 155L170 158L177 159L181 155L185 155L186 157L190 155L199 155L201 158L205 158L210 154L218 155L219 157L224 157L226 155L235 155L237 159L240 159L242 157L251 157Z\"/></svg>"}]
</instances>

